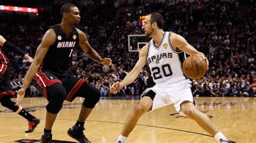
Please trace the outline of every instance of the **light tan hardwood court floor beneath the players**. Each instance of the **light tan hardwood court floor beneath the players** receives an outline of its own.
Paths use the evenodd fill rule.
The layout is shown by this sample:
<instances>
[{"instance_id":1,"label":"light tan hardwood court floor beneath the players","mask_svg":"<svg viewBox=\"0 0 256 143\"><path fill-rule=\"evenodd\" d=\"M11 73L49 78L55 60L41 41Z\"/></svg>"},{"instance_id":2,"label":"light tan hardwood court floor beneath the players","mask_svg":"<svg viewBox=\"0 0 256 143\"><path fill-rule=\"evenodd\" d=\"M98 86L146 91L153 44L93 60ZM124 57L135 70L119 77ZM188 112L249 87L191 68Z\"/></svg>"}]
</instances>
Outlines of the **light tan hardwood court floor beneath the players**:
<instances>
[{"instance_id":1,"label":"light tan hardwood court floor beneath the players","mask_svg":"<svg viewBox=\"0 0 256 143\"><path fill-rule=\"evenodd\" d=\"M12 99L14 100L14 99ZM85 123L85 135L92 142L114 142L125 119L136 106L137 99L101 99ZM195 98L198 109L211 120L227 138L236 142L256 142L256 98L200 97ZM53 125L53 140L75 141L66 131L75 124L82 98L64 102ZM33 133L24 133L28 122L0 105L0 142L21 139L40 139L45 123L46 99L24 98L22 106L41 118ZM216 142L195 121L180 117L173 105L143 115L129 138L129 142Z\"/></svg>"}]
</instances>

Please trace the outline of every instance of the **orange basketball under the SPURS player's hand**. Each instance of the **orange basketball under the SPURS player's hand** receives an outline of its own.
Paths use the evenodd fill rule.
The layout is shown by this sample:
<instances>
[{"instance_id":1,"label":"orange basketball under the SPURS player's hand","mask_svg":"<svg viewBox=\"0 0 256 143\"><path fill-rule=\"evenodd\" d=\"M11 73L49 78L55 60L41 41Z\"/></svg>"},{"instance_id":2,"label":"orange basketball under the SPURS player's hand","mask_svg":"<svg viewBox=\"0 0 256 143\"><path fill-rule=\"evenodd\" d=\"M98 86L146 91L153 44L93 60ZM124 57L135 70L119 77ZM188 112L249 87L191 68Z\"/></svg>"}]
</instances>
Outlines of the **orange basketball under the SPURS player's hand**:
<instances>
[{"instance_id":1,"label":"orange basketball under the SPURS player's hand","mask_svg":"<svg viewBox=\"0 0 256 143\"><path fill-rule=\"evenodd\" d=\"M201 56L191 55L183 62L183 73L191 79L203 77L207 70L206 60Z\"/></svg>"}]
</instances>

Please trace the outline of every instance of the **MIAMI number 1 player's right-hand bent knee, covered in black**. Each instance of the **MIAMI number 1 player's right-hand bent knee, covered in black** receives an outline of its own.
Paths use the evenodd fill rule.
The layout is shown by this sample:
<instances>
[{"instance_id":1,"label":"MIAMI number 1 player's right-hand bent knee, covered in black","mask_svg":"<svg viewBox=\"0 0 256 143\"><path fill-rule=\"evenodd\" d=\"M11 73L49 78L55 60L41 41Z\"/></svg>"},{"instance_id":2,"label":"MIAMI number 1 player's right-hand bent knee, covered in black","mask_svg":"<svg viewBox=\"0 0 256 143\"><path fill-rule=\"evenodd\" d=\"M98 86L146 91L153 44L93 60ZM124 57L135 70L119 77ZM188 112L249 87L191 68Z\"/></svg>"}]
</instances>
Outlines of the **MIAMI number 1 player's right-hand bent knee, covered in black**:
<instances>
[{"instance_id":1,"label":"MIAMI number 1 player's right-hand bent knee, covered in black","mask_svg":"<svg viewBox=\"0 0 256 143\"><path fill-rule=\"evenodd\" d=\"M85 97L83 105L86 108L94 108L95 105L99 102L100 98L100 91L95 88L91 93L88 93L88 95Z\"/></svg>"}]
</instances>

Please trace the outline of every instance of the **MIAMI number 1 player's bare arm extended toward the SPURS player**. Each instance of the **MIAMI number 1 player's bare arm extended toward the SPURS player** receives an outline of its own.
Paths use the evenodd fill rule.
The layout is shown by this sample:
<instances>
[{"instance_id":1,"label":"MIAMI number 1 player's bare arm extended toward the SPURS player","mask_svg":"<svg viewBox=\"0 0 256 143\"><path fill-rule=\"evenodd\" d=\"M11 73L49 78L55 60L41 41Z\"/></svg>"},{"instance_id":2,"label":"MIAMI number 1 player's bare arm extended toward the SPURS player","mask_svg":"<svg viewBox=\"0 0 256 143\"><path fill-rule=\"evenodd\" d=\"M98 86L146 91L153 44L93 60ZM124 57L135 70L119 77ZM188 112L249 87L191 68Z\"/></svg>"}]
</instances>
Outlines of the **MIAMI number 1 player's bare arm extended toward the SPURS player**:
<instances>
[{"instance_id":1,"label":"MIAMI number 1 player's bare arm extended toward the SPURS player","mask_svg":"<svg viewBox=\"0 0 256 143\"><path fill-rule=\"evenodd\" d=\"M83 51L94 61L101 63L104 66L113 66L112 60L110 58L102 59L100 55L91 47L87 40L87 36L84 32L80 31L77 28L78 35L79 35L79 45L83 49Z\"/></svg>"}]
</instances>

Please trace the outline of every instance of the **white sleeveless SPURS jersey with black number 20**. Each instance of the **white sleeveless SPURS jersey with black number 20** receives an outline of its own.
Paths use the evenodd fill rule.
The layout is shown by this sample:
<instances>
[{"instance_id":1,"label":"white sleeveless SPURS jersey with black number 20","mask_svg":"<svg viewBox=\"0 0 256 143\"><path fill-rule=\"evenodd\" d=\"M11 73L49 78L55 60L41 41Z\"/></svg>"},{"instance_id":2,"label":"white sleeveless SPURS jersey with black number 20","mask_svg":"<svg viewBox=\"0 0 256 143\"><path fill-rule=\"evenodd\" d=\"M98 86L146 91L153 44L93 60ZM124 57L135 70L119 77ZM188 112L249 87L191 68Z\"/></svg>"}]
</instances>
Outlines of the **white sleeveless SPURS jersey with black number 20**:
<instances>
[{"instance_id":1,"label":"white sleeveless SPURS jersey with black number 20","mask_svg":"<svg viewBox=\"0 0 256 143\"><path fill-rule=\"evenodd\" d=\"M174 51L169 40L170 34L171 32L164 33L159 47L154 45L153 39L149 42L147 62L157 84L176 84L186 79L182 70L185 53Z\"/></svg>"}]
</instances>

